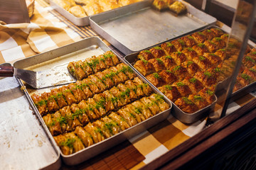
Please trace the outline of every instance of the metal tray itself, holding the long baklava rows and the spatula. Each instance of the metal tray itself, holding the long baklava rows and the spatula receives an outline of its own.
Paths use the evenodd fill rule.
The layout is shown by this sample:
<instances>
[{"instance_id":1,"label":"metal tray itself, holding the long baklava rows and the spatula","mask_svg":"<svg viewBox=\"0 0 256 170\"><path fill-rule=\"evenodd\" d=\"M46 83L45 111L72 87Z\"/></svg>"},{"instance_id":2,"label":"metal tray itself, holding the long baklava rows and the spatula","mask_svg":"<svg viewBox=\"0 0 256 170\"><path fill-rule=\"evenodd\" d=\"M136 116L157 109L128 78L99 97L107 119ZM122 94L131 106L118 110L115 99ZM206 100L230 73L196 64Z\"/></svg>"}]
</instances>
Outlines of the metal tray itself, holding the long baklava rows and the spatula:
<instances>
[{"instance_id":1,"label":"metal tray itself, holding the long baklava rows and the spatula","mask_svg":"<svg viewBox=\"0 0 256 170\"><path fill-rule=\"evenodd\" d=\"M96 37L87 38L85 40L81 40L80 42L75 42L71 45L66 45L65 47L60 47L56 50L51 50L50 52L46 52L40 55L36 55L34 57L30 57L28 59L18 61L15 63L15 66L19 68L23 67L23 69L27 67L32 67L32 66L34 67L34 69L38 69L36 66L46 68L48 64L43 64L43 66L41 66L42 62L52 63L52 60L55 61L56 58L58 59L58 62L53 62L55 64L56 63L58 64L60 63L61 60L66 60L66 59L68 59L69 62L75 61L76 52L79 52L80 50L90 51L93 49L96 49L96 50L100 49L102 50L102 53L110 50L110 48L108 48L107 45L105 45L104 42L102 42L102 40L100 40L99 38L96 38ZM94 55L98 55L98 54L94 54ZM60 57L60 56L63 56L63 57ZM90 53L90 57L91 56L92 56L92 53ZM119 60L121 60L121 62L124 62L124 60L122 60L121 57L119 57ZM137 72L135 73L137 74ZM139 74L137 74L137 76L140 77ZM142 79L142 77L140 78ZM21 84L21 86L23 86L23 82L20 79L18 79L18 81ZM146 83L146 80L142 79L142 81ZM157 89L155 89L153 86L151 86L151 88L155 91L156 94L159 94L159 91L157 91ZM49 89L41 89L40 93L48 90ZM41 122L41 125L43 126L44 130L46 130L46 133L48 134L49 139L53 142L54 147L56 147L57 144L55 143L53 136L50 134L50 131L46 127L46 124L43 122L43 118L41 117L40 113L38 113L38 110L36 106L33 104L33 101L30 97L30 95L35 91L28 88L25 89L24 91L25 91L26 97L28 98L29 103L31 104L31 107L33 108L33 111L35 111L36 115L38 116L38 119ZM28 91L30 92L28 93ZM150 128L153 125L156 125L156 123L159 123L162 120L165 120L168 117L168 115L171 113L172 105L171 105L171 101L169 101L168 98L164 97L164 100L167 103L169 103L170 108L168 110L161 112L157 115L154 115L153 117L143 121L142 123L134 125L132 128L124 130L117 135L107 138L107 140L103 140L102 142L99 142L95 145L82 149L81 151L76 152L75 154L70 154L70 155L62 154L62 152L60 151L60 148L58 147L58 152L60 153L63 162L69 165L74 165L74 164L79 164L81 162L84 162L85 160L90 159L91 157L95 157L97 154L100 154L101 152L104 152L105 150L110 149L110 147L114 147L114 145L117 145L118 143L124 140L127 140L131 137L134 137L134 135L138 135L140 132L143 132L144 130Z\"/></svg>"}]
</instances>

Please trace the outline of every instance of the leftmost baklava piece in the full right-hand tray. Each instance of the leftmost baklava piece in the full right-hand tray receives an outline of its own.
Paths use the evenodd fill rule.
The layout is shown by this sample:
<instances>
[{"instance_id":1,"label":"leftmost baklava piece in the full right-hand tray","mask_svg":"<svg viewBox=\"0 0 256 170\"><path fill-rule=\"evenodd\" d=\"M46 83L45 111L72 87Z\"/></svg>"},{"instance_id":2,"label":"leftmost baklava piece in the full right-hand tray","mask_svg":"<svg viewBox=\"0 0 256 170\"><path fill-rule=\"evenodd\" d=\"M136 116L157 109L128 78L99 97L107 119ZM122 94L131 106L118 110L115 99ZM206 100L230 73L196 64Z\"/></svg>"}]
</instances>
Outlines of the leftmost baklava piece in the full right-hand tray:
<instances>
[{"instance_id":1,"label":"leftmost baklava piece in the full right-hand tray","mask_svg":"<svg viewBox=\"0 0 256 170\"><path fill-rule=\"evenodd\" d=\"M134 64L134 68L137 69L143 76L155 72L153 64L147 60L138 60Z\"/></svg>"}]
</instances>

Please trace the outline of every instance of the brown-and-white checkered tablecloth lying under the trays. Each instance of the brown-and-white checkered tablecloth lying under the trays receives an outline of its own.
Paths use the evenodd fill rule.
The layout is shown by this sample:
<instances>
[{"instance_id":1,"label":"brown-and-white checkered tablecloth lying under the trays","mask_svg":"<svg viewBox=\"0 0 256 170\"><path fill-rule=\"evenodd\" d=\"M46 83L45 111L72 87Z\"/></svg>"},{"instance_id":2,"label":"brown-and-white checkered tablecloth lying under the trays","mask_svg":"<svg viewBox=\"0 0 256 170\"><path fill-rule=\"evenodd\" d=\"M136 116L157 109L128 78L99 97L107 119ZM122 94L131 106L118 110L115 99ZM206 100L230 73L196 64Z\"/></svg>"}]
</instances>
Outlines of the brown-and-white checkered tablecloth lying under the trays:
<instances>
[{"instance_id":1,"label":"brown-and-white checkered tablecloth lying under the trays","mask_svg":"<svg viewBox=\"0 0 256 170\"><path fill-rule=\"evenodd\" d=\"M97 36L97 33L90 26L75 26L54 11L46 1L36 0L36 11L31 23L0 25L0 64L13 64L16 60L91 36ZM115 50L112 46L111 48ZM231 103L228 113L255 97L255 93L250 93ZM217 105L216 113L218 108ZM78 166L63 165L63 169L139 169L201 132L206 126L206 120L185 125L170 115L168 119L117 147Z\"/></svg>"}]
</instances>

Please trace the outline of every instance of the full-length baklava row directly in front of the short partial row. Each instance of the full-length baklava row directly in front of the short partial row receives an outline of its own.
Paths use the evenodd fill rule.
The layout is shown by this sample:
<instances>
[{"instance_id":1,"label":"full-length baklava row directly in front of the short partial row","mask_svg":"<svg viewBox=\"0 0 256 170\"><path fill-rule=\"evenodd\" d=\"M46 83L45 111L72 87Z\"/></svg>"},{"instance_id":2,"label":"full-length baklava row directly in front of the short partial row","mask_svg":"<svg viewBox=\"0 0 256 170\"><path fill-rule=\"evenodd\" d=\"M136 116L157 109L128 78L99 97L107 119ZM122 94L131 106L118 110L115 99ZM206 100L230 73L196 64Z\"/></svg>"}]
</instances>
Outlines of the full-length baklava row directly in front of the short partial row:
<instances>
[{"instance_id":1,"label":"full-length baklava row directly in front of the short partial row","mask_svg":"<svg viewBox=\"0 0 256 170\"><path fill-rule=\"evenodd\" d=\"M79 103L82 100L99 94L107 89L124 83L129 79L134 79L136 75L131 67L126 64L117 64L116 67L110 67L91 74L86 79L76 81L67 86L54 88L50 92L43 94L33 94L33 102L41 115L57 111L64 106L71 106L73 103Z\"/></svg>"}]
</instances>

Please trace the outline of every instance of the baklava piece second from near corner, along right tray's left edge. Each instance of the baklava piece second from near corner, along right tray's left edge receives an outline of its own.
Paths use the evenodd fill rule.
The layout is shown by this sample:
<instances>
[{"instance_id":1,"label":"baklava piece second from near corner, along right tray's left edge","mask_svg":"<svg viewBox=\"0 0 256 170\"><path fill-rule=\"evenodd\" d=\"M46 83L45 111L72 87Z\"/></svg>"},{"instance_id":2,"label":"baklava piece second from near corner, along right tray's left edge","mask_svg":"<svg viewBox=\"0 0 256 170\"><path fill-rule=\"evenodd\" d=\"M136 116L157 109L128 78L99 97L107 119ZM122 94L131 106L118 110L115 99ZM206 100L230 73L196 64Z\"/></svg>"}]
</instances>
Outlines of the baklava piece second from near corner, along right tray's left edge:
<instances>
[{"instance_id":1,"label":"baklava piece second from near corner, along right tray's left edge","mask_svg":"<svg viewBox=\"0 0 256 170\"><path fill-rule=\"evenodd\" d=\"M176 101L177 98L181 97L176 86L171 86L169 84L159 87L159 91L161 91L171 101Z\"/></svg>"}]
</instances>

